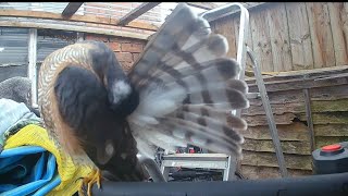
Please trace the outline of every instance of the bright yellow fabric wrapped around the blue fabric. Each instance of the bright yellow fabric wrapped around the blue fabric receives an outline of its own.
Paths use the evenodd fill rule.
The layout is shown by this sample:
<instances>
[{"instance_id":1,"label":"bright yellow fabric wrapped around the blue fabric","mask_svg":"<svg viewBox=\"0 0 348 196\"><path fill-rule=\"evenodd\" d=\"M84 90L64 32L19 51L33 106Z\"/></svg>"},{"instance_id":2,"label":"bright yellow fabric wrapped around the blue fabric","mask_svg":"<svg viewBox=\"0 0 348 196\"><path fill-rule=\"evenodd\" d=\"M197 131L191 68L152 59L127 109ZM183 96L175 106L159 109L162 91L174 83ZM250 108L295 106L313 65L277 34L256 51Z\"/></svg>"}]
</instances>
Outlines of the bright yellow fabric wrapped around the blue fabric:
<instances>
[{"instance_id":1,"label":"bright yellow fabric wrapped around the blue fabric","mask_svg":"<svg viewBox=\"0 0 348 196\"><path fill-rule=\"evenodd\" d=\"M72 158L58 149L53 142L49 139L46 130L38 125L30 124L23 127L7 140L4 149L24 145L41 146L53 154L57 159L61 184L48 195L73 195L82 186L83 180L80 177L88 176L92 171L92 167L75 166Z\"/></svg>"}]
</instances>

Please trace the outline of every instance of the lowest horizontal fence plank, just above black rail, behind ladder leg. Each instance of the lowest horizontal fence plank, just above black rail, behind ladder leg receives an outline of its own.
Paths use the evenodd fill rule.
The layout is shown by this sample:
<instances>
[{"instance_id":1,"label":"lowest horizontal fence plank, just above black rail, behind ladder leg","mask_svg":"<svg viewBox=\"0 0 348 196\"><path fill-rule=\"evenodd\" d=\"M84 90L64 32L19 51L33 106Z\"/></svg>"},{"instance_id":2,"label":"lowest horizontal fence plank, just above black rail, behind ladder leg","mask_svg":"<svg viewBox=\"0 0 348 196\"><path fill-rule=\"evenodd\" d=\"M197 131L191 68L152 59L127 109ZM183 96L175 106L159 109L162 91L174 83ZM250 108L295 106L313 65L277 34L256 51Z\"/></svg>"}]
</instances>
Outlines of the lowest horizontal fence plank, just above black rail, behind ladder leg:
<instances>
[{"instance_id":1,"label":"lowest horizontal fence plank, just above black rail, behind ladder leg","mask_svg":"<svg viewBox=\"0 0 348 196\"><path fill-rule=\"evenodd\" d=\"M311 170L294 170L288 169L290 176L303 176L311 175ZM271 167L253 167L253 166L243 166L241 174L248 180L263 180L263 179L277 179L281 177L279 171L277 168Z\"/></svg>"}]
</instances>

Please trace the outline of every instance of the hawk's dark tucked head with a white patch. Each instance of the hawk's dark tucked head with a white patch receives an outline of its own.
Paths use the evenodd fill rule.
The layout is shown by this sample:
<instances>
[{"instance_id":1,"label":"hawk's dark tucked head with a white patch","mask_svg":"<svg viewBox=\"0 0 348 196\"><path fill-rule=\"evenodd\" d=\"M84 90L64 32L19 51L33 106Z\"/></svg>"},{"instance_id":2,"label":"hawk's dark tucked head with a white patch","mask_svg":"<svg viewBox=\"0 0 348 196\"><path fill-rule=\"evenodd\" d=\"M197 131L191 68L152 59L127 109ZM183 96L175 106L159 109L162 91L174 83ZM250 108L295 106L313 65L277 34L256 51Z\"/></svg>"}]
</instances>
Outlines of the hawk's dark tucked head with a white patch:
<instances>
[{"instance_id":1,"label":"hawk's dark tucked head with a white patch","mask_svg":"<svg viewBox=\"0 0 348 196\"><path fill-rule=\"evenodd\" d=\"M109 91L109 101L117 115L127 117L139 105L139 93L129 81L115 81Z\"/></svg>"}]
</instances>

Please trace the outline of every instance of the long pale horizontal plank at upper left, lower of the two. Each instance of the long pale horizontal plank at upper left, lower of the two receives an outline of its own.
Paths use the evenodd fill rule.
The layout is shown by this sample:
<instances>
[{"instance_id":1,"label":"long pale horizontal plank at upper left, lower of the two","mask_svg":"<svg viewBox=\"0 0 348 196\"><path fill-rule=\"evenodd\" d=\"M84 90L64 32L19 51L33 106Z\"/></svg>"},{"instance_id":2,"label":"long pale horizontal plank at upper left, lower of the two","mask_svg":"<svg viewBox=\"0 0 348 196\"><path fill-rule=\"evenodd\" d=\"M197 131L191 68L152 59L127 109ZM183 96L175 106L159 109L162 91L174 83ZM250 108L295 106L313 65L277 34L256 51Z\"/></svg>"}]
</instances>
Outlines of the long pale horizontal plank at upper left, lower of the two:
<instances>
[{"instance_id":1,"label":"long pale horizontal plank at upper left, lower of the two","mask_svg":"<svg viewBox=\"0 0 348 196\"><path fill-rule=\"evenodd\" d=\"M35 23L35 22L22 22L22 21L0 21L0 26L7 27L25 27L25 28L46 28L46 29L61 29L61 30L71 30L71 32L83 32L90 34L101 34L119 37L128 37L135 39L146 40L149 36L140 33L130 33L104 28L96 28L88 26L73 26L73 25L63 25L63 24L53 24L53 23Z\"/></svg>"}]
</instances>

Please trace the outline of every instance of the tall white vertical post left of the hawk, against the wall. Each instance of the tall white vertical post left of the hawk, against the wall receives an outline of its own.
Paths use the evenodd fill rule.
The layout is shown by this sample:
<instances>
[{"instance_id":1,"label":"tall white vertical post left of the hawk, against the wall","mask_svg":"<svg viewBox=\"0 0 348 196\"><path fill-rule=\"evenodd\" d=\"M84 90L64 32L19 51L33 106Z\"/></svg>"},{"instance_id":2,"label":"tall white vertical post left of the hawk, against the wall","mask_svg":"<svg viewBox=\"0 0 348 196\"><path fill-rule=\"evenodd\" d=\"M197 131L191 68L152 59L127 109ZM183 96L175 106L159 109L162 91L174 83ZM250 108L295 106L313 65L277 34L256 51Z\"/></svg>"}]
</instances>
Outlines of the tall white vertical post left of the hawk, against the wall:
<instances>
[{"instance_id":1,"label":"tall white vertical post left of the hawk, against the wall","mask_svg":"<svg viewBox=\"0 0 348 196\"><path fill-rule=\"evenodd\" d=\"M27 76L32 81L30 102L33 108L37 108L37 73L36 73L36 58L37 58L37 29L29 28L28 36L28 72Z\"/></svg>"}]
</instances>

